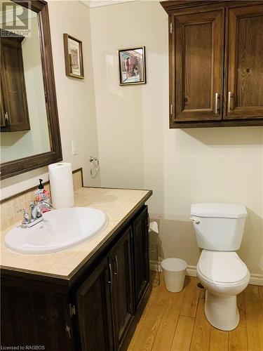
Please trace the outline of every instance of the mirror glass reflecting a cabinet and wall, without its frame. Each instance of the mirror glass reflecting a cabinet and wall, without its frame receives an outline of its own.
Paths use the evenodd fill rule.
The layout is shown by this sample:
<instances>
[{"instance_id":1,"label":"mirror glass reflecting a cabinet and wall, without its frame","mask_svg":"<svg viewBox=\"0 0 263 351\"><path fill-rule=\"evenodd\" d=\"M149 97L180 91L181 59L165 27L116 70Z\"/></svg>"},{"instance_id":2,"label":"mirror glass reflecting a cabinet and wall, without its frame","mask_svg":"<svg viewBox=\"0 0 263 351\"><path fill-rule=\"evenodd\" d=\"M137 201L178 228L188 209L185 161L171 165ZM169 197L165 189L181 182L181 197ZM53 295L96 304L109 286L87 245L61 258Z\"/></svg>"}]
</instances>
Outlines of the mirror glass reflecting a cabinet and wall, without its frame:
<instances>
[{"instance_id":1,"label":"mirror glass reflecting a cabinet and wall, without its frame","mask_svg":"<svg viewBox=\"0 0 263 351\"><path fill-rule=\"evenodd\" d=\"M11 6L1 13L1 164L51 151L37 13L4 2ZM25 33L6 32L14 5L17 14L25 13Z\"/></svg>"}]
</instances>

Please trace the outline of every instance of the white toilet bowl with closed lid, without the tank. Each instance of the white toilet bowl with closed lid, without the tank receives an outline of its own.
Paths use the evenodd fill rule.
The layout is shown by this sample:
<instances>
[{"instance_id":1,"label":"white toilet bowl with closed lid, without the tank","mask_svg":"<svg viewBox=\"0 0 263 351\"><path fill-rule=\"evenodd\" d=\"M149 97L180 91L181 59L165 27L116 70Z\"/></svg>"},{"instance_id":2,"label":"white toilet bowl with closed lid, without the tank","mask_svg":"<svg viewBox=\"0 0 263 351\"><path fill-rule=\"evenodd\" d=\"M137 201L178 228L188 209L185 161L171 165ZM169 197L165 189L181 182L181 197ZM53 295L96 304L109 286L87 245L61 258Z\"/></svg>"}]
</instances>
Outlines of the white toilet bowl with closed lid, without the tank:
<instances>
[{"instance_id":1,"label":"white toilet bowl with closed lid, without the tank","mask_svg":"<svg viewBox=\"0 0 263 351\"><path fill-rule=\"evenodd\" d=\"M205 316L215 328L231 331L238 326L236 295L250 279L245 263L234 251L203 250L197 276L205 291Z\"/></svg>"}]
</instances>

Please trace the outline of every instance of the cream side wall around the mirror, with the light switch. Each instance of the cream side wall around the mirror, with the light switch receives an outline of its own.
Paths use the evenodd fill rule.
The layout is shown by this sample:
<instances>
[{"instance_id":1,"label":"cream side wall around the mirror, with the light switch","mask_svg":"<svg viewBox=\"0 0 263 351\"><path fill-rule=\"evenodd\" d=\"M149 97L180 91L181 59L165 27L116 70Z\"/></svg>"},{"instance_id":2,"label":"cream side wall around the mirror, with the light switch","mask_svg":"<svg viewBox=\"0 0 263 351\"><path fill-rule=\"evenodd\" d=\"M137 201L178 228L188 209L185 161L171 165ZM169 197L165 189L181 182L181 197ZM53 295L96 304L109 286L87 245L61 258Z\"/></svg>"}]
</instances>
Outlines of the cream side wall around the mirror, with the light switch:
<instances>
[{"instance_id":1,"label":"cream side wall around the mirror, with the light switch","mask_svg":"<svg viewBox=\"0 0 263 351\"><path fill-rule=\"evenodd\" d=\"M83 167L84 183L100 185L100 176L90 177L88 157L97 156L97 127L91 59L89 9L80 1L48 1L50 32L53 49L55 86L58 100L63 160L72 168ZM65 76L63 33L83 41L85 79ZM77 139L79 154L72 156L71 140ZM1 198L11 196L47 180L47 167L23 173L1 182Z\"/></svg>"}]
</instances>

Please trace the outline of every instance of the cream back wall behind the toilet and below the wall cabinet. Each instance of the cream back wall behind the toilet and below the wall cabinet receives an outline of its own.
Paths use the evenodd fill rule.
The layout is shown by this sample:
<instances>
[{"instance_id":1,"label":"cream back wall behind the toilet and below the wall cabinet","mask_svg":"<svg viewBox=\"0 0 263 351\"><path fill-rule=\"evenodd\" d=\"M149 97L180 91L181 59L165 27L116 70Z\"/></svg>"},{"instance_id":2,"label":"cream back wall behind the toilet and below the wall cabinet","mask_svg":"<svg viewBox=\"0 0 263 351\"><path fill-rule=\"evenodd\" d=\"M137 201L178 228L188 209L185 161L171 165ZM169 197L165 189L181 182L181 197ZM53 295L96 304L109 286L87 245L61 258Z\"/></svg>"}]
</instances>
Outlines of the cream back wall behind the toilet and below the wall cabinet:
<instances>
[{"instance_id":1,"label":"cream back wall behind the toilet and below the wall cabinet","mask_svg":"<svg viewBox=\"0 0 263 351\"><path fill-rule=\"evenodd\" d=\"M248 208L239 254L262 273L263 129L168 128L168 16L159 1L90 10L102 186L154 190L163 257L196 265L191 203L237 202ZM118 48L146 46L147 84L119 86Z\"/></svg>"}]
</instances>

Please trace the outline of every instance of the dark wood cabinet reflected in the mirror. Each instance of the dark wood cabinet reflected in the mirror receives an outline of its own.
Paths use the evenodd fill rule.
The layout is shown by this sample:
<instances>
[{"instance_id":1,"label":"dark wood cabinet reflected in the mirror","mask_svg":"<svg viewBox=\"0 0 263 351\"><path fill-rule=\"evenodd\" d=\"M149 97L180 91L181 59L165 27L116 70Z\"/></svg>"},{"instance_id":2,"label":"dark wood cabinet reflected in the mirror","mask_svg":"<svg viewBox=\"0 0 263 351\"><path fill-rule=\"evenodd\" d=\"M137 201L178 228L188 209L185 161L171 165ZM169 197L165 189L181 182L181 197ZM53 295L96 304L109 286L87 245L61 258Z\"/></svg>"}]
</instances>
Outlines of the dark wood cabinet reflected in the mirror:
<instances>
[{"instance_id":1,"label":"dark wood cabinet reflected in the mirror","mask_svg":"<svg viewBox=\"0 0 263 351\"><path fill-rule=\"evenodd\" d=\"M22 58L23 39L1 38L1 131L30 129Z\"/></svg>"}]
</instances>

